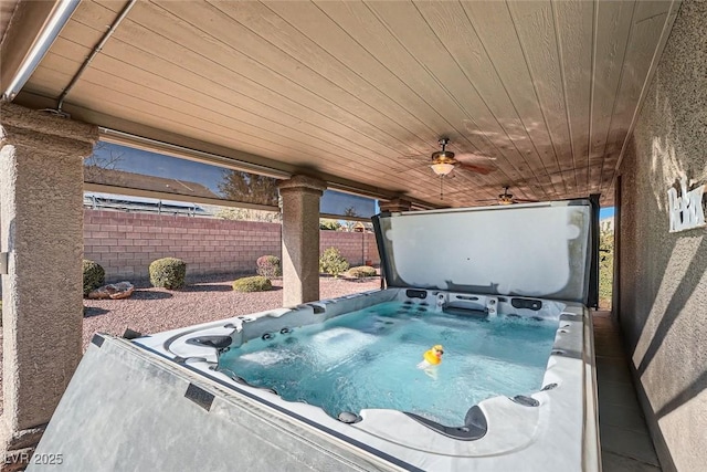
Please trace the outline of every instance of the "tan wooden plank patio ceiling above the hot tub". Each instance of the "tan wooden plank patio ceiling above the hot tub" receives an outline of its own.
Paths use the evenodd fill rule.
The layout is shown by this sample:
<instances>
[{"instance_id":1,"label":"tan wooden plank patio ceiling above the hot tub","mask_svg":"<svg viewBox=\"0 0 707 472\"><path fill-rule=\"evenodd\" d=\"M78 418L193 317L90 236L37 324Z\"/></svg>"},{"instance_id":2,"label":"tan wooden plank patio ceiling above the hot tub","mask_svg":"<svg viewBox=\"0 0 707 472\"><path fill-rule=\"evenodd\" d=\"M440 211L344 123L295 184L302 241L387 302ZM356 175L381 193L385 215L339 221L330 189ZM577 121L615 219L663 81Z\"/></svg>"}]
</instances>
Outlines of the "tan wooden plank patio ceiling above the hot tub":
<instances>
[{"instance_id":1,"label":"tan wooden plank patio ceiling above the hot tub","mask_svg":"<svg viewBox=\"0 0 707 472\"><path fill-rule=\"evenodd\" d=\"M55 99L124 7L84 0L18 98ZM613 200L671 1L138 1L64 104L443 206ZM175 138L177 136L178 138ZM464 161L426 166L447 136ZM180 144L180 143L176 143Z\"/></svg>"}]
</instances>

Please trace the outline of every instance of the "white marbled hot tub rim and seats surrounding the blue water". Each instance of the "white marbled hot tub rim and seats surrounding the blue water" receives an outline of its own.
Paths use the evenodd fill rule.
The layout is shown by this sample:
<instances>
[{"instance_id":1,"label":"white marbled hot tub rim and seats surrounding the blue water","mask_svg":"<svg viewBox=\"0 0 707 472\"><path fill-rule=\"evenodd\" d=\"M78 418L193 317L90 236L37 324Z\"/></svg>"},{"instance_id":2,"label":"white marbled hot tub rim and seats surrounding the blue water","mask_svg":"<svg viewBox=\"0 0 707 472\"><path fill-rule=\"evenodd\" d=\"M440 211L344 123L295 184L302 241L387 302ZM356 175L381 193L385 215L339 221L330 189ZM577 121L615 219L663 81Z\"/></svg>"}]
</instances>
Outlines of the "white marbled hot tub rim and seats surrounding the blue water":
<instances>
[{"instance_id":1,"label":"white marbled hot tub rim and seats surrounding the blue water","mask_svg":"<svg viewBox=\"0 0 707 472\"><path fill-rule=\"evenodd\" d=\"M469 298L476 300L468 302ZM267 386L250 385L239 376L239 371L219 369L219 357L224 355L220 353L258 342L263 336L272 336L274 342L276 337L287 338L303 326L325 323L369 306L399 301L416 308L425 300L432 301L434 307L440 301L443 304L456 302L456 306L477 304L472 310L475 313L469 316L479 316L476 314L478 308L487 306L495 311L492 316L499 319L519 317L520 322L527 323L557 322L546 369L536 391L497 396L478 405L468 405L466 417L458 423L442 424L412 411L391 409L347 411L335 418L318 405L286 401ZM488 316L488 308L482 316ZM192 329L139 338L135 343L263 406L284 412L293 421L317 428L405 470L597 469L591 323L581 304L389 289L294 310L234 317ZM410 363L416 364L418 360L414 358ZM441 369L446 367L444 363ZM331 388L335 389L334 386ZM336 395L336 391L331 394Z\"/></svg>"}]
</instances>

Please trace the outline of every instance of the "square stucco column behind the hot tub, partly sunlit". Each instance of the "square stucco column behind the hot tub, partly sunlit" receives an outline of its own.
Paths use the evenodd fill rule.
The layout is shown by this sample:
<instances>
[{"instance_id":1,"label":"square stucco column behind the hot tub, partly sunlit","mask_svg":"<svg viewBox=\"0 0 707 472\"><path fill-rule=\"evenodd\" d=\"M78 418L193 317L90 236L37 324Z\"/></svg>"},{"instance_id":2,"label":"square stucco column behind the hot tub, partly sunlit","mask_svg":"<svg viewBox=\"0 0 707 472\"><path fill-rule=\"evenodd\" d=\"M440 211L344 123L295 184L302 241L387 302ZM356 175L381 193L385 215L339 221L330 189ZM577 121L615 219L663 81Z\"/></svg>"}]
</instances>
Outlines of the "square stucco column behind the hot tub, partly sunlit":
<instances>
[{"instance_id":1,"label":"square stucco column behind the hot tub, partly sunlit","mask_svg":"<svg viewBox=\"0 0 707 472\"><path fill-rule=\"evenodd\" d=\"M283 306L319 300L319 200L326 183L307 176L279 182L283 200Z\"/></svg>"}]
</instances>

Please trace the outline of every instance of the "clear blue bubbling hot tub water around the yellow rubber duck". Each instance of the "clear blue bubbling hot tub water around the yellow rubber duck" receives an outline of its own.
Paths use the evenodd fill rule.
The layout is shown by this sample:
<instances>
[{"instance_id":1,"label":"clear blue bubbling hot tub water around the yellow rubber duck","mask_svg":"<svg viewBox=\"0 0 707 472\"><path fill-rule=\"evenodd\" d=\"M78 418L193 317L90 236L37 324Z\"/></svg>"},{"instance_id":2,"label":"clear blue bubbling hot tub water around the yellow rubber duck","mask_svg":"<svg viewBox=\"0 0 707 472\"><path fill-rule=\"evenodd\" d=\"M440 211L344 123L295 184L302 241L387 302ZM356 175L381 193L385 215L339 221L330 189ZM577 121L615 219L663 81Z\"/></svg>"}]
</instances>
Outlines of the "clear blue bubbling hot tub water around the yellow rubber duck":
<instances>
[{"instance_id":1,"label":"clear blue bubbling hot tub water around the yellow rubber duck","mask_svg":"<svg viewBox=\"0 0 707 472\"><path fill-rule=\"evenodd\" d=\"M486 398L541 388L558 322L430 308L386 302L274 333L223 354L219 370L334 418L387 408L445 426L462 426L467 410ZM444 346L444 357L432 376L416 365L435 344Z\"/></svg>"}]
</instances>

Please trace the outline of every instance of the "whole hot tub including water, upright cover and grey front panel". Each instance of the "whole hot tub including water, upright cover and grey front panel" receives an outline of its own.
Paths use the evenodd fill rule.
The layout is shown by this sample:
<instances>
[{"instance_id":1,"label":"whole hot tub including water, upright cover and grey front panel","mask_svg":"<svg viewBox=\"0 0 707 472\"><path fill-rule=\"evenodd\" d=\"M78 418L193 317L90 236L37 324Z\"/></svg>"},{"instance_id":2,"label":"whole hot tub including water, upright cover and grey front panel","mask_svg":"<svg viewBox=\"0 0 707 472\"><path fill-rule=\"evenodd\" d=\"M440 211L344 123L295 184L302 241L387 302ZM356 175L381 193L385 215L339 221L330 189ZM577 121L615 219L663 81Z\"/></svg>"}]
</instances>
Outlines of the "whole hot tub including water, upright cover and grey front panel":
<instances>
[{"instance_id":1,"label":"whole hot tub including water, upright cover and grey front panel","mask_svg":"<svg viewBox=\"0 0 707 472\"><path fill-rule=\"evenodd\" d=\"M147 454L150 431L157 428L177 444L171 448L179 457L177 464L188 460L190 466L203 468L211 461L209 466L219 470L218 464L233 447L243 461L241 466L249 470L599 470L592 324L587 308L592 286L593 207L584 200L517 207L376 217L384 290L225 317L131 342L97 336L38 453L67 447L86 449L85 441L71 440L67 431L76 424L99 422L95 418L105 411L105 402L87 395L86 388L91 385L95 394L110 378L110 387L122 392L115 395L116 401L130 405L143 418L120 424L135 434L134 449ZM390 306L400 307L394 310L399 315L383 313L382 307ZM354 313L365 323L345 324ZM428 321L431 324L425 325ZM507 338L488 343L498 347L505 342L509 347L475 365L499 363L515 348L518 352L510 356L514 360L500 370L506 376L524 370L524 354L538 355L526 345L513 346L517 344L513 336L534 326L549 329L537 379L517 387L520 391L514 390L520 384L503 386L478 367L468 380L457 381L465 368L454 367L454 363L465 355L466 336L476 339L467 344L482 344L474 336L497 323L506 329ZM443 326L435 331L434 324ZM452 331L452 325L460 331ZM415 326L420 326L416 332ZM435 334L420 340L420 332ZM306 333L309 337L298 337ZM373 348L383 335L393 336L393 345L413 346L411 354ZM391 346L390 342L386 346ZM337 350L329 356L331 359L325 359L333 366L366 356L380 357L384 365L381 350L403 356L402 364L387 375L394 377L405 370L407 377L393 379L399 389L386 388L395 396L397 390L410 387L409 382L419 382L436 407L426 408L416 397L407 403L359 398L357 407L346 409L336 402L344 396L337 380L342 379L346 388L356 387L357 380L369 381L351 374L317 384L312 397L288 390L299 377L306 381L306 369L298 370L289 384L274 385L278 375L261 381L260 377L272 374L267 369L275 363L271 363L273 356L284 358L287 368L289 345L306 347L307 343L324 346L318 349L325 357L326 346L336 349L350 345L350 355ZM443 363L431 373L415 366L422 359L424 343L447 344ZM101 356L105 358L98 360ZM256 364L264 369L261 374L245 374L244 364L239 361L247 356L260 359ZM101 366L113 374L96 373ZM136 373L140 377L137 381L131 378ZM81 380L86 376L91 380ZM83 385L83 394L76 381ZM481 397L466 396L466 390L483 382L492 387ZM461 390L461 396L434 403L445 386ZM329 402L331 399L334 402ZM186 406L176 406L179 402ZM450 407L451 416L442 415L442 407ZM120 411L125 406L105 416L115 420ZM171 428L158 428L160 424ZM189 441L173 439L175 431L191 432L202 445L186 447ZM118 433L110 430L110 434ZM95 448L89 450L88 455L97 453ZM197 455L200 459L194 459ZM112 458L86 464L122 463ZM170 461L176 461L154 455L149 459L146 464L161 469L173 466Z\"/></svg>"}]
</instances>

